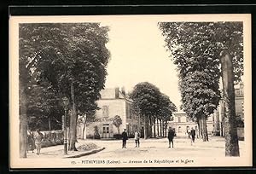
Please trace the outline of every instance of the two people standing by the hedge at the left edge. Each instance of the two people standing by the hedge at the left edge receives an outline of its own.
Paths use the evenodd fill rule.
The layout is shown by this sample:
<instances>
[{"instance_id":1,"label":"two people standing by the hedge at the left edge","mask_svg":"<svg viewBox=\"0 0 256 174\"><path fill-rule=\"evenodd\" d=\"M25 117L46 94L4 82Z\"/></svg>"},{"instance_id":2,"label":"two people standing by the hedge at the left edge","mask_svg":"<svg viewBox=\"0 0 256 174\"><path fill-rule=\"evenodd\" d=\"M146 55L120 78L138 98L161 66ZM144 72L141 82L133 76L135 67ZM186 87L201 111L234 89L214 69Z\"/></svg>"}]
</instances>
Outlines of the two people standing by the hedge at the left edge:
<instances>
[{"instance_id":1,"label":"two people standing by the hedge at the left edge","mask_svg":"<svg viewBox=\"0 0 256 174\"><path fill-rule=\"evenodd\" d=\"M39 130L36 132L27 131L27 153L29 151L34 153L34 149L37 149L37 154L40 154L43 138L44 135Z\"/></svg>"}]
</instances>

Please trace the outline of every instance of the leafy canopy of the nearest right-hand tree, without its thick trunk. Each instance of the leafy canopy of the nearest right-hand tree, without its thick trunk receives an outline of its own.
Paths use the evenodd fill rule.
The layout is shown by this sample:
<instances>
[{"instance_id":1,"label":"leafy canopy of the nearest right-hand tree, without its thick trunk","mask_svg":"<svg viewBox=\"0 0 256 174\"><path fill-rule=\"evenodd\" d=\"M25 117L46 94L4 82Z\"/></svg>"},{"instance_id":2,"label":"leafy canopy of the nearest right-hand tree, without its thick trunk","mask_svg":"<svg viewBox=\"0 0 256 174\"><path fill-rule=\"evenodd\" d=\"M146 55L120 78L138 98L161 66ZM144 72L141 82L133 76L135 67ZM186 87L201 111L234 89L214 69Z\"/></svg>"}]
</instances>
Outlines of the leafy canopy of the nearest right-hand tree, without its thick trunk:
<instances>
[{"instance_id":1,"label":"leafy canopy of the nearest right-hand tree, without its thick trunk","mask_svg":"<svg viewBox=\"0 0 256 174\"><path fill-rule=\"evenodd\" d=\"M159 26L181 76L204 69L206 73L214 73L218 78L220 68L218 67L218 71L213 69L212 72L211 65L207 65L207 62L216 62L216 65L219 65L220 55L224 50L228 50L233 58L235 81L241 81L242 22L160 22Z\"/></svg>"}]
</instances>

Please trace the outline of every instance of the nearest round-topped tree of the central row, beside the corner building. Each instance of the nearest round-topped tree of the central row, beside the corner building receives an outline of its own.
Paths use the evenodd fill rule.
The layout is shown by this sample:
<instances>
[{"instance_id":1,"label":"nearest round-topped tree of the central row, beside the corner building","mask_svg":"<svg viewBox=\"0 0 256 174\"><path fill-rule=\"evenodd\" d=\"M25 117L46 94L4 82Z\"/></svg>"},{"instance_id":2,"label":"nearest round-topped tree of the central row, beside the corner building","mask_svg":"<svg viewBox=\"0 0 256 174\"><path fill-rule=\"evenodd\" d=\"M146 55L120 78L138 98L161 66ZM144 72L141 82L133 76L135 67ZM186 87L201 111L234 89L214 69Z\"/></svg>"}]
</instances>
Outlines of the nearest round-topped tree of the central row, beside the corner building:
<instances>
[{"instance_id":1,"label":"nearest round-topped tree of the central row, beside the corner building","mask_svg":"<svg viewBox=\"0 0 256 174\"><path fill-rule=\"evenodd\" d=\"M148 82L136 84L131 91L133 107L137 107L138 115L143 116L144 120L144 138L148 138L149 120L157 115L160 105L160 90ZM151 126L151 125L150 125Z\"/></svg>"}]
</instances>

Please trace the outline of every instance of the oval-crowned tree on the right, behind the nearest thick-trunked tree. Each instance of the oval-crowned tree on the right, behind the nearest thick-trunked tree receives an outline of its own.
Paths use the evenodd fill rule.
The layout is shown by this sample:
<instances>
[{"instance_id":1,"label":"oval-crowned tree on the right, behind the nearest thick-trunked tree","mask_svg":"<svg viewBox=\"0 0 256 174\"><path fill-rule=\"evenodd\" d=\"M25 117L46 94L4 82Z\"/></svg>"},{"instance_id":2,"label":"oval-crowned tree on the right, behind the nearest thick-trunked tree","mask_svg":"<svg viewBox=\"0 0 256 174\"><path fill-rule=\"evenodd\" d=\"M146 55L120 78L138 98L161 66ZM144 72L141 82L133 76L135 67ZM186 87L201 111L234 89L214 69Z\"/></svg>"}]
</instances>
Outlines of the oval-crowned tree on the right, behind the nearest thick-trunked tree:
<instances>
[{"instance_id":1,"label":"oval-crowned tree on the right, behind the nearest thick-trunked tree","mask_svg":"<svg viewBox=\"0 0 256 174\"><path fill-rule=\"evenodd\" d=\"M207 117L218 107L220 99L218 79L204 72L189 72L179 87L183 110L198 123L203 141L208 141Z\"/></svg>"}]
</instances>

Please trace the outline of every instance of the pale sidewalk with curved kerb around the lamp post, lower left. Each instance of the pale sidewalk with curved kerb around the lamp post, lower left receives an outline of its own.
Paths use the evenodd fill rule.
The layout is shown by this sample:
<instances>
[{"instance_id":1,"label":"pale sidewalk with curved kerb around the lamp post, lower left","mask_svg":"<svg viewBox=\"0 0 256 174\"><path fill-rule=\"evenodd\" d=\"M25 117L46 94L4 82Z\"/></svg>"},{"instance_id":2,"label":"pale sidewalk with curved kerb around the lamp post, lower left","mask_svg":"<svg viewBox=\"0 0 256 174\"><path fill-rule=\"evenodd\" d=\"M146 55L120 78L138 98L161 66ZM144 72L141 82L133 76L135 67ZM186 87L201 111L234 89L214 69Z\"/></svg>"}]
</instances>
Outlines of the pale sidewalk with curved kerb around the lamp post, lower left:
<instances>
[{"instance_id":1,"label":"pale sidewalk with curved kerb around the lamp post, lower left","mask_svg":"<svg viewBox=\"0 0 256 174\"><path fill-rule=\"evenodd\" d=\"M76 142L76 147L82 146L86 144L85 140L79 140L79 142ZM34 153L32 151L29 151L26 156L27 158L79 158L84 155L89 154L95 154L97 152L102 151L103 147L98 147L96 149L91 150L84 150L84 151L67 151L67 155L64 155L64 145L57 145L57 146L51 146L47 148L41 148L41 154L37 154L37 149L34 150Z\"/></svg>"}]
</instances>

